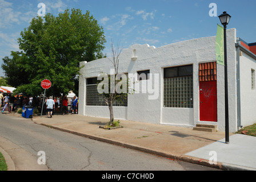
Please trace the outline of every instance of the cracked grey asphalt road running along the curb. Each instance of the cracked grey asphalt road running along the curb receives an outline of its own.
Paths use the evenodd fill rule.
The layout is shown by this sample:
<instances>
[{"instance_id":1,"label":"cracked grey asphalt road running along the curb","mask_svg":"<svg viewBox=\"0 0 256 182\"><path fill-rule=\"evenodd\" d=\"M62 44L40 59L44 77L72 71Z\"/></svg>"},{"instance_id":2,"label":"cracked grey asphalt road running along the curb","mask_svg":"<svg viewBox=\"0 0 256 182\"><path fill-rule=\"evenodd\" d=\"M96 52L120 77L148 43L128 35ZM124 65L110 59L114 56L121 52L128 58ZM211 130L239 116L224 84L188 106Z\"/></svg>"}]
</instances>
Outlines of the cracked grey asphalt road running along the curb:
<instances>
[{"instance_id":1,"label":"cracked grey asphalt road running along the curb","mask_svg":"<svg viewBox=\"0 0 256 182\"><path fill-rule=\"evenodd\" d=\"M53 171L218 171L50 129L11 114L0 114L0 136L35 160L43 151Z\"/></svg>"}]
</instances>

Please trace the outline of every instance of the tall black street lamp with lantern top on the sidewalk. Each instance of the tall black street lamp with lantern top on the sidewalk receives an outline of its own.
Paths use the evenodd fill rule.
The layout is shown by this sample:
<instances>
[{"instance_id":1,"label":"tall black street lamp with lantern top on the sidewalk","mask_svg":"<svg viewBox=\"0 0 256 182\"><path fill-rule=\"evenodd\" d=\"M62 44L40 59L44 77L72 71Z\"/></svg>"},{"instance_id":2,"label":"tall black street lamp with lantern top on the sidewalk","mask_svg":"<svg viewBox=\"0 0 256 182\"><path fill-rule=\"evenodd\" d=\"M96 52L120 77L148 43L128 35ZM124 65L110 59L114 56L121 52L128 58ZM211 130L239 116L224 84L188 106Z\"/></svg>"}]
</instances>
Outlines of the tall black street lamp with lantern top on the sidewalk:
<instances>
[{"instance_id":1,"label":"tall black street lamp with lantern top on the sidewalk","mask_svg":"<svg viewBox=\"0 0 256 182\"><path fill-rule=\"evenodd\" d=\"M224 26L224 61L225 61L225 138L226 143L229 143L229 98L228 98L228 89L227 89L227 34L226 28L229 24L231 16L227 14L226 11L223 14L219 15L219 20Z\"/></svg>"}]
</instances>

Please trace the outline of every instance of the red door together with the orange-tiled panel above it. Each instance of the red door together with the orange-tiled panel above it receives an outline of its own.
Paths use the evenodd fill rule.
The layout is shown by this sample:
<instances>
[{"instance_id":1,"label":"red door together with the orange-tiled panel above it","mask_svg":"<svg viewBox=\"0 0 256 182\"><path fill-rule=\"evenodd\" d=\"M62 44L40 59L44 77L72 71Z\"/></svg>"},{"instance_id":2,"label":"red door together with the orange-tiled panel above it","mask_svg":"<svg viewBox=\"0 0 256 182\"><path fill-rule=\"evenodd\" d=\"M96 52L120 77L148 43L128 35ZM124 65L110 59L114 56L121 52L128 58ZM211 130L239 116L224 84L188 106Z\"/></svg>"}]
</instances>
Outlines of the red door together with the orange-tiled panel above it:
<instances>
[{"instance_id":1,"label":"red door together with the orange-tiled panel above it","mask_svg":"<svg viewBox=\"0 0 256 182\"><path fill-rule=\"evenodd\" d=\"M216 63L199 65L200 121L217 122L217 72Z\"/></svg>"}]
</instances>

